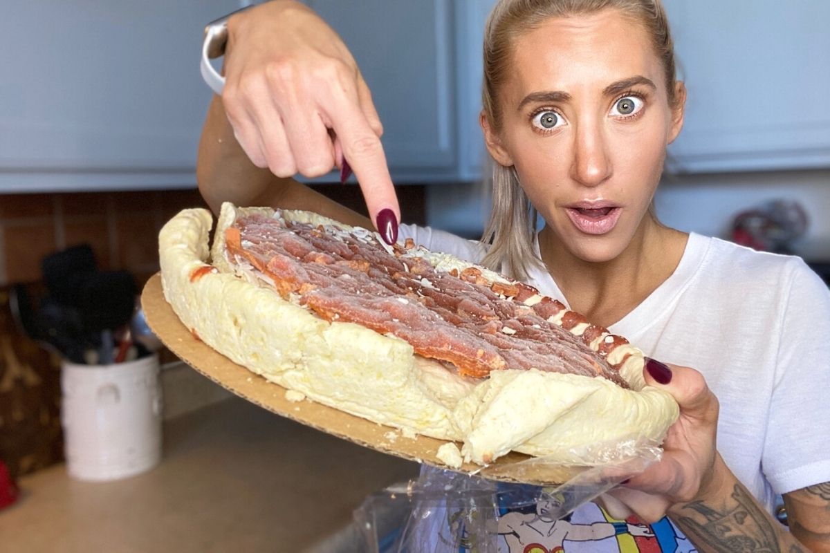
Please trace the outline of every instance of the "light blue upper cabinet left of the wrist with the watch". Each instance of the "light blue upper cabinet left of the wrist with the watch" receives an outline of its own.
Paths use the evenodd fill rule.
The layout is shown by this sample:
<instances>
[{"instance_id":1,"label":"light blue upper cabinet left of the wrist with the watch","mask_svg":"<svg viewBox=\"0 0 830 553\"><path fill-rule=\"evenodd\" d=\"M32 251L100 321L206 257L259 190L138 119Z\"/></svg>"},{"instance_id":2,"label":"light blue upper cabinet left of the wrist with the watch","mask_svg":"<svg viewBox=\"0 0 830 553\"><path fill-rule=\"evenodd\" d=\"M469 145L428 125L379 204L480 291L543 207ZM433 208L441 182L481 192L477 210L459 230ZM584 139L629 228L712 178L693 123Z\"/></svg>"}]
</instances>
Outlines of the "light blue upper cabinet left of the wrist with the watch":
<instances>
[{"instance_id":1,"label":"light blue upper cabinet left of the wrist with the watch","mask_svg":"<svg viewBox=\"0 0 830 553\"><path fill-rule=\"evenodd\" d=\"M239 7L7 2L0 193L194 187L203 28Z\"/></svg>"}]
</instances>

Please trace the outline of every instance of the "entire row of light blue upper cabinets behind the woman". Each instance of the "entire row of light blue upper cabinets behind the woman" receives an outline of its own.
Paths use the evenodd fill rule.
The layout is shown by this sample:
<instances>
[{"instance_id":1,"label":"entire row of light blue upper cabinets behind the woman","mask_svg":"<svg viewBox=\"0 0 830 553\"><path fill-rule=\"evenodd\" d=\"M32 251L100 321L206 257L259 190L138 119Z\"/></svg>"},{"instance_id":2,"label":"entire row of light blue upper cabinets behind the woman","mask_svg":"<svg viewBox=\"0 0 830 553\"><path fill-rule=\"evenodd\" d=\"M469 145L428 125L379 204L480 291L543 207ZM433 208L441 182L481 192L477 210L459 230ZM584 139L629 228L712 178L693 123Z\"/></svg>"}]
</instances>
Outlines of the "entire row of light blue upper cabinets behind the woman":
<instances>
[{"instance_id":1,"label":"entire row of light blue upper cabinets behind the woman","mask_svg":"<svg viewBox=\"0 0 830 553\"><path fill-rule=\"evenodd\" d=\"M240 0L17 2L0 193L193 187L204 23ZM495 0L306 0L353 51L395 182L484 174L481 41ZM689 99L677 172L830 166L830 2L666 0ZM335 180L330 175L323 180Z\"/></svg>"}]
</instances>

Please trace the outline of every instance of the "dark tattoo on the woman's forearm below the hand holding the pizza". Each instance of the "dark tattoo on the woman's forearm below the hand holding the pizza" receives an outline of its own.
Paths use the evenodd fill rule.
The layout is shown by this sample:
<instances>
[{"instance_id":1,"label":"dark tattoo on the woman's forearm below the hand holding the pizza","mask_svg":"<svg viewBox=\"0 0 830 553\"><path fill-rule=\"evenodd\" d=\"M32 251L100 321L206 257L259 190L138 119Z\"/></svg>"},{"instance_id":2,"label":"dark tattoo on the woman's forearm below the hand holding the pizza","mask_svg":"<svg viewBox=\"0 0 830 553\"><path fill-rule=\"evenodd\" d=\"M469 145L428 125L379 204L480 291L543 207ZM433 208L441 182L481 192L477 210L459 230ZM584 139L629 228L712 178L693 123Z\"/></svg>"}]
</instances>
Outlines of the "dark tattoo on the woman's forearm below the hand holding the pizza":
<instances>
[{"instance_id":1,"label":"dark tattoo on the woman's forearm below the hand holding the pizza","mask_svg":"<svg viewBox=\"0 0 830 553\"><path fill-rule=\"evenodd\" d=\"M806 553L798 544L782 546L781 533L772 517L755 502L740 484L732 490L733 502L720 508L691 502L684 505L676 518L678 526L702 551L757 551L759 553Z\"/></svg>"}]
</instances>

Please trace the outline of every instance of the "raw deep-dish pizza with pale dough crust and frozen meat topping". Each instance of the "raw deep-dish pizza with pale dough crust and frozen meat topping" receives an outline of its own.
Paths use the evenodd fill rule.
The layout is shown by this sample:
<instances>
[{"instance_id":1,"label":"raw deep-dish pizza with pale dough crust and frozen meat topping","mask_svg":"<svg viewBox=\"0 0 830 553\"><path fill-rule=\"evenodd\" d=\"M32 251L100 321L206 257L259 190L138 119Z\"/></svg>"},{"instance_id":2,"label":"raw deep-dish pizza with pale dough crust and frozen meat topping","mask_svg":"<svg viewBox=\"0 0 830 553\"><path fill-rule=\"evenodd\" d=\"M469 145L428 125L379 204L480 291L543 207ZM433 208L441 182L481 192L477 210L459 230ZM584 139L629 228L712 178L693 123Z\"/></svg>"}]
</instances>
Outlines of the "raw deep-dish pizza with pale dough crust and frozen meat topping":
<instances>
[{"instance_id":1,"label":"raw deep-dish pizza with pale dough crust and frozen meat topping","mask_svg":"<svg viewBox=\"0 0 830 553\"><path fill-rule=\"evenodd\" d=\"M527 284L306 211L225 204L208 250L211 226L185 210L159 236L194 335L310 400L461 443L451 466L607 463L676 420L642 352Z\"/></svg>"}]
</instances>

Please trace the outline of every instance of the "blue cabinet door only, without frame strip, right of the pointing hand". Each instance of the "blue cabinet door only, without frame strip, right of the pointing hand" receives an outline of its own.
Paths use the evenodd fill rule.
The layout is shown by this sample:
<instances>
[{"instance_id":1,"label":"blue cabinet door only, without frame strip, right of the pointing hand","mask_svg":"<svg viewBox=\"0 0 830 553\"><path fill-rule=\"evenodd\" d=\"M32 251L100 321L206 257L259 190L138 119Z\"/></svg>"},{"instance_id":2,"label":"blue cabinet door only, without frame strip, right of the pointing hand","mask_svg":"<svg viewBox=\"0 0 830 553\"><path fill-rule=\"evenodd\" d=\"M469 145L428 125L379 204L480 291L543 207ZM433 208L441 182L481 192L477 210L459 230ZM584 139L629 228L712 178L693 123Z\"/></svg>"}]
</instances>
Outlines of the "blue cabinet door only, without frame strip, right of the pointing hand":
<instances>
[{"instance_id":1,"label":"blue cabinet door only, without frame strip, right of the pointing hand","mask_svg":"<svg viewBox=\"0 0 830 553\"><path fill-rule=\"evenodd\" d=\"M372 91L398 181L457 171L451 0L307 0L343 37Z\"/></svg>"}]
</instances>

